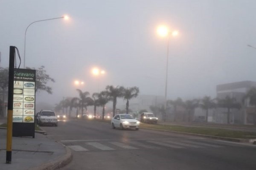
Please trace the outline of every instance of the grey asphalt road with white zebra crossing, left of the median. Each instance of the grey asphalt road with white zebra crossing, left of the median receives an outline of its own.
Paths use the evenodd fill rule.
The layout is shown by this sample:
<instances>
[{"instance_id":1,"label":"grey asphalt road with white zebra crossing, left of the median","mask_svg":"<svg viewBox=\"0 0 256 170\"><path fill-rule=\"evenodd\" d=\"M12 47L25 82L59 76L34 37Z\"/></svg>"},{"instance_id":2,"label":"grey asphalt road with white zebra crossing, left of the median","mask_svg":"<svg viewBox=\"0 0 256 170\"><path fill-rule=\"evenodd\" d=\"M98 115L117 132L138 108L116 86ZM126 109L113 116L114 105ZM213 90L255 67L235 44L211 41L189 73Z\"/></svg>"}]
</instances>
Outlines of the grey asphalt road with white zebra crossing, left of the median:
<instances>
[{"instance_id":1,"label":"grey asphalt road with white zebra crossing, left of the median","mask_svg":"<svg viewBox=\"0 0 256 170\"><path fill-rule=\"evenodd\" d=\"M61 170L255 170L256 145L154 130L119 130L86 120L42 127L70 147Z\"/></svg>"}]
</instances>

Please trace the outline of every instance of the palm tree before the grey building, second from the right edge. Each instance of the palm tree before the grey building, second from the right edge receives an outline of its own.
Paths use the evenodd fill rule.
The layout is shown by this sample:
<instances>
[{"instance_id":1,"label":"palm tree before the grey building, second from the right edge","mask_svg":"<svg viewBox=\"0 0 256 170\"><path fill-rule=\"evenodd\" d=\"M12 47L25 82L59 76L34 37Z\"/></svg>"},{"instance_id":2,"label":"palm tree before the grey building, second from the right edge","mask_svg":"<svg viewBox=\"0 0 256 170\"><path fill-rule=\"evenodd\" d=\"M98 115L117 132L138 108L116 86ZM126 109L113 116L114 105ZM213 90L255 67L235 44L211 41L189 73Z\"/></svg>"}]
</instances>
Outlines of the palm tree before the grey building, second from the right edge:
<instances>
[{"instance_id":1,"label":"palm tree before the grey building, second from the right edge","mask_svg":"<svg viewBox=\"0 0 256 170\"><path fill-rule=\"evenodd\" d=\"M225 99L218 99L218 106L221 108L227 108L227 123L230 124L230 109L240 109L240 103L236 102L236 98L226 96Z\"/></svg>"}]
</instances>

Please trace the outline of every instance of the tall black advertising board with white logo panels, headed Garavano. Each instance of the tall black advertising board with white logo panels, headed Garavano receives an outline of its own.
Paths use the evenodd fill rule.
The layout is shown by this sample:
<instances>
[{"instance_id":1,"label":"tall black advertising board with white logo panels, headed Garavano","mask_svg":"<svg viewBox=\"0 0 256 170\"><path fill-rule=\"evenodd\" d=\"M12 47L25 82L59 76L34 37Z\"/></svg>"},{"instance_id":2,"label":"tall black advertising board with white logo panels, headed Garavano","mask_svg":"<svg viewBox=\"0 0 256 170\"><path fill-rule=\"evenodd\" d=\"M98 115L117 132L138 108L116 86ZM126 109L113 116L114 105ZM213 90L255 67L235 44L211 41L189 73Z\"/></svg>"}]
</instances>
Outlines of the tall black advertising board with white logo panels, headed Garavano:
<instances>
[{"instance_id":1,"label":"tall black advertising board with white logo panels, headed Garavano","mask_svg":"<svg viewBox=\"0 0 256 170\"><path fill-rule=\"evenodd\" d=\"M13 136L35 137L35 70L15 69Z\"/></svg>"}]
</instances>

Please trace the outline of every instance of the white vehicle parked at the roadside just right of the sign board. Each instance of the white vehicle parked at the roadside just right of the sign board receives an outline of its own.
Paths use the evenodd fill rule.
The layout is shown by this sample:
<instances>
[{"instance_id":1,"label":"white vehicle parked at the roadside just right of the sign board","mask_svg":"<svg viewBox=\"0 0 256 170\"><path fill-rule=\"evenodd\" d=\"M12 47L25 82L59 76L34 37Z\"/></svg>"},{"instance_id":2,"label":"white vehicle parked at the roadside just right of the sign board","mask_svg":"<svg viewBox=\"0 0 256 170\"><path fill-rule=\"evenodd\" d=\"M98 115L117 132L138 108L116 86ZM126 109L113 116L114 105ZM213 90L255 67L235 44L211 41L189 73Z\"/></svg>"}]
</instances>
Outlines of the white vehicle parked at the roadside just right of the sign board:
<instances>
[{"instance_id":1,"label":"white vehicle parked at the roadside just right of the sign board","mask_svg":"<svg viewBox=\"0 0 256 170\"><path fill-rule=\"evenodd\" d=\"M37 116L38 125L55 125L58 126L58 119L54 111L42 110Z\"/></svg>"}]
</instances>

